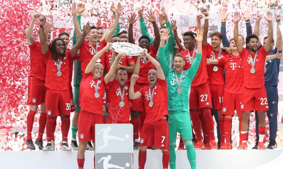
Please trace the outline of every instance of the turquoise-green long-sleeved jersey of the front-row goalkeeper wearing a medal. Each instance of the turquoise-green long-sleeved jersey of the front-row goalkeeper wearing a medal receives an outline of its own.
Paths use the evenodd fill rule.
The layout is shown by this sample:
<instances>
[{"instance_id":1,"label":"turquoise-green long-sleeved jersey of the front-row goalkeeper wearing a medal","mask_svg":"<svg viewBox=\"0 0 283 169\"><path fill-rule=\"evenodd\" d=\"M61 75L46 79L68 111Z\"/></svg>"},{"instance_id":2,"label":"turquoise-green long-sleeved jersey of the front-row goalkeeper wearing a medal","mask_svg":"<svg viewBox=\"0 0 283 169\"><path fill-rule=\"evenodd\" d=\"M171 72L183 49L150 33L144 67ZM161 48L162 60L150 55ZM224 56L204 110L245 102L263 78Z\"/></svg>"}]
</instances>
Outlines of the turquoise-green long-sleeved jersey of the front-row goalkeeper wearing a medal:
<instances>
[{"instance_id":1,"label":"turquoise-green long-sleeved jersey of the front-row goalkeeper wearing a medal","mask_svg":"<svg viewBox=\"0 0 283 169\"><path fill-rule=\"evenodd\" d=\"M166 77L168 90L168 111L186 111L189 112L189 96L191 90L191 82L194 79L201 61L201 54L196 54L196 58L192 62L188 70L183 71L181 89L182 93L178 94L178 84L175 77L175 70L171 69L169 62L165 59L164 48L159 47L159 61ZM178 80L182 73L177 73Z\"/></svg>"}]
</instances>

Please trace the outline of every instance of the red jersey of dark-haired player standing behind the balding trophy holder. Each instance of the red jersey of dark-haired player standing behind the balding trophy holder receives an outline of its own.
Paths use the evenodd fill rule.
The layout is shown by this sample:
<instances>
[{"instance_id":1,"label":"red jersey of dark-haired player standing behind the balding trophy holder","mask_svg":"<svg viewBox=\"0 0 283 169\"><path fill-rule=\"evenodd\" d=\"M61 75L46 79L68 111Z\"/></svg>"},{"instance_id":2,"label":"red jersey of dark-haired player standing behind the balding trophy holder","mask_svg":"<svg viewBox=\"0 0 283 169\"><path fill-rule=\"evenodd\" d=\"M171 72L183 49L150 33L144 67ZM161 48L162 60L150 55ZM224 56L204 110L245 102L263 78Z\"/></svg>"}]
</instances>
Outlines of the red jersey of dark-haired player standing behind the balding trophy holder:
<instances>
[{"instance_id":1,"label":"red jersey of dark-haired player standing behind the balding trophy holder","mask_svg":"<svg viewBox=\"0 0 283 169\"><path fill-rule=\"evenodd\" d=\"M107 43L104 39L98 45L92 45L92 46L95 50L100 51L106 45ZM91 48L91 44L88 43L88 41L84 40L83 44L80 46L80 62L81 62L82 75L85 73L85 68L87 67L88 63L91 61L91 59L95 54L96 54L95 51ZM104 55L102 55L96 62L101 63L104 68L105 58L103 56Z\"/></svg>"}]
</instances>

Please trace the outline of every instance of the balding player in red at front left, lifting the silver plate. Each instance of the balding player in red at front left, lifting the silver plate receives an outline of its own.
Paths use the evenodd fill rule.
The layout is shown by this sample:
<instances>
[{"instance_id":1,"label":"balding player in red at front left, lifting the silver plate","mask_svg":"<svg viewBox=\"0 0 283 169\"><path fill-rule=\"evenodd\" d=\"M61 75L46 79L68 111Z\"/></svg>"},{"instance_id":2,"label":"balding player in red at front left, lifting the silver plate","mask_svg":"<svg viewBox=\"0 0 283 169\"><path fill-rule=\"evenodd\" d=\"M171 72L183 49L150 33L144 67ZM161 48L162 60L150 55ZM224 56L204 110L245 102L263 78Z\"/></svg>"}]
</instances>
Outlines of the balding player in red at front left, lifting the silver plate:
<instances>
[{"instance_id":1,"label":"balding player in red at front left, lifting the silver plate","mask_svg":"<svg viewBox=\"0 0 283 169\"><path fill-rule=\"evenodd\" d=\"M102 103L106 93L106 85L113 80L113 75L120 58L125 53L120 53L111 66L109 73L103 76L103 66L96 61L111 47L108 43L102 50L93 56L85 69L85 74L80 85L80 107L78 120L79 148L77 155L78 168L83 169L85 161L85 148L89 140L95 143L95 124L103 124ZM95 157L93 158L95 163Z\"/></svg>"}]
</instances>

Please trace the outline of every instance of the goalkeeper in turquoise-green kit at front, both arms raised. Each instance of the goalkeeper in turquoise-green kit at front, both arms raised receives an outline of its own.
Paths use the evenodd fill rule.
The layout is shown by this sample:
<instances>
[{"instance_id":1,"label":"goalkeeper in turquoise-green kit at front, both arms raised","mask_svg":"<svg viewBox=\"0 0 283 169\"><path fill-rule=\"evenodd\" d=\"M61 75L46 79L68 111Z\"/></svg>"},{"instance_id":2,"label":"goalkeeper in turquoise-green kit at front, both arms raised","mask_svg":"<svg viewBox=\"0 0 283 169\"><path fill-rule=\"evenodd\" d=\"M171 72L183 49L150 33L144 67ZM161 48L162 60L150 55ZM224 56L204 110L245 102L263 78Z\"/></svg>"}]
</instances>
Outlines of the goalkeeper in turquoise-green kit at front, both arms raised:
<instances>
[{"instance_id":1,"label":"goalkeeper in turquoise-green kit at front, both arms raised","mask_svg":"<svg viewBox=\"0 0 283 169\"><path fill-rule=\"evenodd\" d=\"M175 144L177 132L182 136L184 144L187 148L187 158L190 162L192 169L196 168L196 155L192 143L192 126L189 114L189 95L191 89L191 82L195 77L200 60L202 58L202 46L198 45L196 58L192 62L188 70L183 71L185 65L185 58L181 54L177 54L173 58L174 70L165 58L164 44L165 41L171 36L170 30L167 28L161 35L159 45L159 60L164 75L167 81L168 90L168 114L169 114L169 151L170 160L169 165L171 169L176 169L176 153ZM194 35L195 36L195 35ZM202 43L203 31L198 30L195 40L198 44Z\"/></svg>"}]
</instances>

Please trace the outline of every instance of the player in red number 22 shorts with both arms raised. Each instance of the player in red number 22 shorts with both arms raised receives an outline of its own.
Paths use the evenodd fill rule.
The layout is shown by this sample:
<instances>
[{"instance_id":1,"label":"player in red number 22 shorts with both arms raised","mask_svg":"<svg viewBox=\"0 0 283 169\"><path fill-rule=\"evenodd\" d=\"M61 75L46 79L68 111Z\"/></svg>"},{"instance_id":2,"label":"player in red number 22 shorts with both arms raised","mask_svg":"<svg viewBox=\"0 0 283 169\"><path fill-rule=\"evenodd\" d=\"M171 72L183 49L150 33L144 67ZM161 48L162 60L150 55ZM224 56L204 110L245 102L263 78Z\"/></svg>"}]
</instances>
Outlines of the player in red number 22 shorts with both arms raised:
<instances>
[{"instance_id":1,"label":"player in red number 22 shorts with both arms raised","mask_svg":"<svg viewBox=\"0 0 283 169\"><path fill-rule=\"evenodd\" d=\"M259 149L265 149L263 139L265 135L265 112L268 110L268 102L266 90L264 87L264 65L265 58L268 51L272 47L273 30L272 30L272 13L267 12L265 19L268 21L268 38L264 44L264 48L257 50L258 37L254 34L246 37L246 45L249 50L243 48L239 41L238 22L241 20L240 13L236 12L234 15L234 40L237 50L240 53L243 67L244 67L244 89L243 89L243 102L241 109L243 111L242 127L240 137L242 142L237 147L238 149L246 149L248 137L248 121L252 111L257 111L259 116Z\"/></svg>"}]
</instances>

